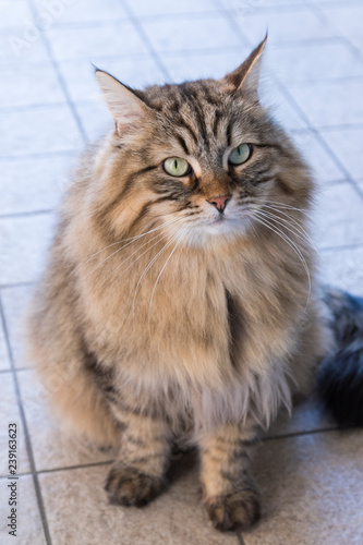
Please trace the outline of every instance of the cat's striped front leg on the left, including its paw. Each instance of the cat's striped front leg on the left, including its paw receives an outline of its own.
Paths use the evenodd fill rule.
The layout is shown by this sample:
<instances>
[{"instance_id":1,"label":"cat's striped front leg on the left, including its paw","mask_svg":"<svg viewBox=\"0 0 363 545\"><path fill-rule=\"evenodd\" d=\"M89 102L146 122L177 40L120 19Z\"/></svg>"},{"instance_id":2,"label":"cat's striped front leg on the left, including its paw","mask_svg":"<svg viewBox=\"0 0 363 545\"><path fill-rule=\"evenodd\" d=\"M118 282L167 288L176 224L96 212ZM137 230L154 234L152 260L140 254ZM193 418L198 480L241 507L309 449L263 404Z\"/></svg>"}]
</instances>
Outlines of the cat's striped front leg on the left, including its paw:
<instances>
[{"instance_id":1,"label":"cat's striped front leg on the left, including its paw","mask_svg":"<svg viewBox=\"0 0 363 545\"><path fill-rule=\"evenodd\" d=\"M121 448L108 473L105 489L111 504L142 507L165 486L169 429L154 415L119 407L113 407L113 414L121 427Z\"/></svg>"}]
</instances>

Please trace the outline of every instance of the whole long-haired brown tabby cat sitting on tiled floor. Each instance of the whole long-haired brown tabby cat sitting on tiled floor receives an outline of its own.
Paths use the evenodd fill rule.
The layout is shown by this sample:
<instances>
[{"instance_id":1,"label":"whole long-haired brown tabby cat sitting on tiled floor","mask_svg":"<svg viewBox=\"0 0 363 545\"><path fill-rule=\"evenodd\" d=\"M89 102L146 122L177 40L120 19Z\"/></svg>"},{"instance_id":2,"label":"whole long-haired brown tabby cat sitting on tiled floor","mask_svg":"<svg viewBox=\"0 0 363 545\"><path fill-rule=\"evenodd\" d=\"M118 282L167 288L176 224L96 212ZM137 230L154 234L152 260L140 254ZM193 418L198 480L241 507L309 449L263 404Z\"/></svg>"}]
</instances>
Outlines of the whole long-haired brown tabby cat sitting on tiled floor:
<instances>
[{"instance_id":1,"label":"whole long-haired brown tabby cat sitting on tiled floor","mask_svg":"<svg viewBox=\"0 0 363 545\"><path fill-rule=\"evenodd\" d=\"M83 157L29 319L63 420L119 444L110 500L153 499L184 439L220 530L258 519L258 428L323 359L338 416L363 420L363 306L316 286L311 172L258 101L265 41L219 81L141 92L96 70L114 130Z\"/></svg>"}]
</instances>

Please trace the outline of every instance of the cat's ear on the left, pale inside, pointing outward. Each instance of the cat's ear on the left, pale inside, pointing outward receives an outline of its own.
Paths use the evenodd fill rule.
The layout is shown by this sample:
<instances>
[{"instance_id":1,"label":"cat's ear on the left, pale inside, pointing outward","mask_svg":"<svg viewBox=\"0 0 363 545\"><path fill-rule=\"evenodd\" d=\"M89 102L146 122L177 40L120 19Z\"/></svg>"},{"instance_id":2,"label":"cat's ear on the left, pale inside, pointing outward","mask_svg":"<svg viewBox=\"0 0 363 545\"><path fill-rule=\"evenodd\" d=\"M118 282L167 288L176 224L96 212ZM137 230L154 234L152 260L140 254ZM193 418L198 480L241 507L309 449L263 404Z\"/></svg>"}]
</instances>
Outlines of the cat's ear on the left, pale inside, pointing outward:
<instances>
[{"instance_id":1,"label":"cat's ear on the left, pale inside, pointing outward","mask_svg":"<svg viewBox=\"0 0 363 545\"><path fill-rule=\"evenodd\" d=\"M118 132L121 134L140 128L152 109L130 87L107 72L96 68L95 75Z\"/></svg>"}]
</instances>

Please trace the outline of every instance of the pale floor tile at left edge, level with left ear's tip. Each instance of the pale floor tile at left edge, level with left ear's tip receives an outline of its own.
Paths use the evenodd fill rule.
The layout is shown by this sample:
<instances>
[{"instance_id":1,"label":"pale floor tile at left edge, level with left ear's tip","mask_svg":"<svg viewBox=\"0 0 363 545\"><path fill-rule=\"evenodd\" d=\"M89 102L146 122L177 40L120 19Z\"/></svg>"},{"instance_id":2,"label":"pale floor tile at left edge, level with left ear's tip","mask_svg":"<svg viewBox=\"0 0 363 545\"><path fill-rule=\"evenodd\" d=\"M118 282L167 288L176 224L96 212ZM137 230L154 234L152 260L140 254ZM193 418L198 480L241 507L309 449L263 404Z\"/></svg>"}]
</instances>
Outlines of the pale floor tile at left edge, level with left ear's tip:
<instances>
[{"instance_id":1,"label":"pale floor tile at left edge, level with left ear's tip","mask_svg":"<svg viewBox=\"0 0 363 545\"><path fill-rule=\"evenodd\" d=\"M65 97L52 66L2 70L0 106L17 107L64 102Z\"/></svg>"}]
</instances>

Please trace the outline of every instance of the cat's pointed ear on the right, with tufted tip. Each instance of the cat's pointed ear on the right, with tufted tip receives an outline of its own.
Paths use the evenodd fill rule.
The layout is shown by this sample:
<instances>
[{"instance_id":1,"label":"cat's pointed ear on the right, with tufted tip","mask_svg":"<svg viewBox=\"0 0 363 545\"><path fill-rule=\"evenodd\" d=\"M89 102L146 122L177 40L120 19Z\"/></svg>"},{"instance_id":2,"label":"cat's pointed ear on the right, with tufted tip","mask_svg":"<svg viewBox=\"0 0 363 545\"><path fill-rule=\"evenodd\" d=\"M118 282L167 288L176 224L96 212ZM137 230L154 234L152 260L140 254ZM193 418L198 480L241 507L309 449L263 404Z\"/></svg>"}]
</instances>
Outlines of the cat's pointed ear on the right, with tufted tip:
<instances>
[{"instance_id":1,"label":"cat's pointed ear on the right, with tufted tip","mask_svg":"<svg viewBox=\"0 0 363 545\"><path fill-rule=\"evenodd\" d=\"M251 94L257 94L261 62L267 41L267 34L263 41L252 51L239 68L225 75L221 83L228 93L244 89Z\"/></svg>"}]
</instances>

